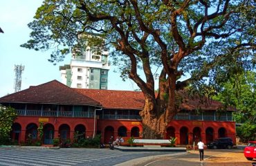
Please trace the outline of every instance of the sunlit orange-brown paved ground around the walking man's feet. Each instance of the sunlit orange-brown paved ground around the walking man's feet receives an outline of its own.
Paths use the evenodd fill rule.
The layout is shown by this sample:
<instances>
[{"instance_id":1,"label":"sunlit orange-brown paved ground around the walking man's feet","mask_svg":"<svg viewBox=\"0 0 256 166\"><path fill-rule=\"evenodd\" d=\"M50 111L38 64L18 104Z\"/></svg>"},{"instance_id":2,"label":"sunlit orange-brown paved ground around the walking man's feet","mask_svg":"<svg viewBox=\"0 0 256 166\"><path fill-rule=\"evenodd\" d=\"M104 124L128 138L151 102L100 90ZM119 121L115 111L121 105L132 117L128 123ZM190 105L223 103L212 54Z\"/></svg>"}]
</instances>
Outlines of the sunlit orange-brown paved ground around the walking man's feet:
<instances>
[{"instance_id":1,"label":"sunlit orange-brown paved ground around the walking man's feet","mask_svg":"<svg viewBox=\"0 0 256 166\"><path fill-rule=\"evenodd\" d=\"M134 166L251 166L251 161L244 158L241 149L232 150L205 150L205 160L200 162L199 152L192 151L183 156L161 156L148 158L148 160L136 159L132 161ZM128 166L122 163L120 166Z\"/></svg>"}]
</instances>

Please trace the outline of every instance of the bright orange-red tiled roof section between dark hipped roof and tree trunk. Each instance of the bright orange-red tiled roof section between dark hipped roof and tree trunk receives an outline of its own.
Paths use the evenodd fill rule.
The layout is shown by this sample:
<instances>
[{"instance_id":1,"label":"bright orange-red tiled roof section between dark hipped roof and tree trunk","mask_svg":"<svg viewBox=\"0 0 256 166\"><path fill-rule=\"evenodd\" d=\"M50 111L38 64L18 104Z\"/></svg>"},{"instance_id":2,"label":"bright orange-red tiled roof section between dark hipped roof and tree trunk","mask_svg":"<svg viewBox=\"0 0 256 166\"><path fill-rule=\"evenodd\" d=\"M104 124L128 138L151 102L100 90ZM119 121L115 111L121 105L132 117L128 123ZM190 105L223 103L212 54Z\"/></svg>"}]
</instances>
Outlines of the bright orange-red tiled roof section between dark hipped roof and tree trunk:
<instances>
[{"instance_id":1,"label":"bright orange-red tiled roof section between dark hipped roof and tree trunk","mask_svg":"<svg viewBox=\"0 0 256 166\"><path fill-rule=\"evenodd\" d=\"M102 104L104 109L143 109L144 95L139 91L75 89Z\"/></svg>"}]
</instances>

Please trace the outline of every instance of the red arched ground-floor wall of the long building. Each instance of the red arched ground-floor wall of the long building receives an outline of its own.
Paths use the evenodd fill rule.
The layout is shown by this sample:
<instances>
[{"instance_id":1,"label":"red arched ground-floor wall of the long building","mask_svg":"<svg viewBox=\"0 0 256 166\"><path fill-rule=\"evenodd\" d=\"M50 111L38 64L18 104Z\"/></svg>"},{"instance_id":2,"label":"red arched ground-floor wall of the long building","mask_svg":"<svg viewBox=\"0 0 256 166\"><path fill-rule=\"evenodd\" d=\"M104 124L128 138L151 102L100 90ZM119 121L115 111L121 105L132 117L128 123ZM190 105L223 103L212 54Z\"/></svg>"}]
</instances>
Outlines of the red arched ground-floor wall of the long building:
<instances>
[{"instance_id":1,"label":"red arched ground-floor wall of the long building","mask_svg":"<svg viewBox=\"0 0 256 166\"><path fill-rule=\"evenodd\" d=\"M60 125L62 124L68 124L70 127L70 138L73 140L73 134L74 129L77 124L83 124L86 128L86 136L93 136L93 118L54 118L54 117L31 117L31 116L19 116L15 122L19 123L21 125L21 133L19 134L19 142L25 141L25 135L26 135L26 127L30 123L35 123L37 126L39 125L39 118L46 118L48 122L44 122L44 124L53 124L55 132L54 132L54 138L58 138L58 130ZM139 129L139 138L142 138L142 131L143 131L143 125L141 121L136 120L96 120L95 122L95 131L100 131L102 134L102 140L101 142L107 143L107 140L110 137L110 135L113 134L114 139L118 137L118 128L119 127L125 127L127 129L127 138L131 136L131 129L133 127L138 127ZM105 135L105 128L106 127L113 127L113 133L109 133L109 136ZM181 142L181 134L180 130L181 127L187 127L188 128L188 143L192 145L193 141L193 129L197 127L197 129L200 129L200 137L201 140L205 143L206 142L206 133L205 130L208 127L211 127L213 129L213 135L212 138L216 139L219 138L218 131L221 127L225 129L226 131L226 137L232 138L233 142L236 142L235 140L235 122L216 122L216 121L199 121L199 120L172 120L167 127L174 127L174 133L175 137L177 138L176 144L179 145ZM196 135L197 136L197 135ZM124 138L127 140L127 138ZM165 139L170 139L169 136L167 136L167 133L165 133Z\"/></svg>"}]
</instances>

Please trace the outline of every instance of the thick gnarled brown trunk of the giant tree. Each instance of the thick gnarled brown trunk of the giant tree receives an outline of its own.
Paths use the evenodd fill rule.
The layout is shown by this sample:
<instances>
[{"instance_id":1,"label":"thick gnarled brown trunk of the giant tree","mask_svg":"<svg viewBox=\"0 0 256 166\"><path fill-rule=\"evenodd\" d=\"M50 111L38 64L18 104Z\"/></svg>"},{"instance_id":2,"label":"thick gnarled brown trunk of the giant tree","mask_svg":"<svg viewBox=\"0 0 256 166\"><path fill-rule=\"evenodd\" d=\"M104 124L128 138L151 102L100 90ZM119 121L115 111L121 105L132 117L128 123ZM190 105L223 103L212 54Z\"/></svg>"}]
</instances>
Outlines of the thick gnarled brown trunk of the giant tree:
<instances>
[{"instance_id":1,"label":"thick gnarled brown trunk of the giant tree","mask_svg":"<svg viewBox=\"0 0 256 166\"><path fill-rule=\"evenodd\" d=\"M168 78L159 84L157 98L145 96L145 105L140 116L143 118L143 138L164 138L167 124L176 113L175 80L176 76Z\"/></svg>"}]
</instances>

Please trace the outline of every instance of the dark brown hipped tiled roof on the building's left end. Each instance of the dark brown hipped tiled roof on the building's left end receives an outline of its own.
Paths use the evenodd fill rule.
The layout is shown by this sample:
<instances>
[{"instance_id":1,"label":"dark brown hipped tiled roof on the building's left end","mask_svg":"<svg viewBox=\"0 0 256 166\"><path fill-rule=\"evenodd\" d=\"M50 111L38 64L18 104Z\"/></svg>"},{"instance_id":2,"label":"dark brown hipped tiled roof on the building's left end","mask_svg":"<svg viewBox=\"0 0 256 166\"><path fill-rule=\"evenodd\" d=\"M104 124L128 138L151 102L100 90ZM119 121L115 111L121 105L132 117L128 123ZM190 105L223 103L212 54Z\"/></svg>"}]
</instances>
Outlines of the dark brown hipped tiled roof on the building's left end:
<instances>
[{"instance_id":1,"label":"dark brown hipped tiled roof on the building's left end","mask_svg":"<svg viewBox=\"0 0 256 166\"><path fill-rule=\"evenodd\" d=\"M17 93L3 96L0 102L26 102L26 103L44 103L44 104L79 104L99 106L100 103L74 91L74 89L53 80L30 86L30 88Z\"/></svg>"}]
</instances>

